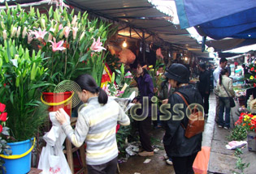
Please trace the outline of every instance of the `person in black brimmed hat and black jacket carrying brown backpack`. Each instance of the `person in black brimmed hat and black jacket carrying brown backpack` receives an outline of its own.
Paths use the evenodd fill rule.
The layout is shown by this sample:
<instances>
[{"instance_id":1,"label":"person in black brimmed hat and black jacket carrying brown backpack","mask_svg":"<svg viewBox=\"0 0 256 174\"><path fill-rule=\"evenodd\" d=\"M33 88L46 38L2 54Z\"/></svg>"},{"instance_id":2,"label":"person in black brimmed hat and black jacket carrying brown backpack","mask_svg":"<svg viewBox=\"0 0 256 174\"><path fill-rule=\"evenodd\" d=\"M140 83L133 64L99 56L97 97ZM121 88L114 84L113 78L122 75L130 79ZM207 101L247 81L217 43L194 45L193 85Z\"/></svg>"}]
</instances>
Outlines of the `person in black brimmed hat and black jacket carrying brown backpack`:
<instances>
[{"instance_id":1,"label":"person in black brimmed hat and black jacket carrying brown backpack","mask_svg":"<svg viewBox=\"0 0 256 174\"><path fill-rule=\"evenodd\" d=\"M201 104L202 97L193 85L189 85L189 70L182 64L174 63L168 69L165 76L169 79L171 87L175 87L184 95L185 100L189 104ZM171 118L165 121L165 135L163 144L167 155L171 157L176 174L193 173L193 161L197 156L197 152L201 151L202 133L196 134L192 138L184 136L189 118L186 116L186 104L180 95L174 93L169 97L168 104L171 104ZM180 108L180 112L174 112L175 104L183 104L184 108ZM183 112L184 114L182 114ZM174 119L174 116L181 119ZM183 117L184 116L184 117ZM182 125L181 125L182 124Z\"/></svg>"}]
</instances>

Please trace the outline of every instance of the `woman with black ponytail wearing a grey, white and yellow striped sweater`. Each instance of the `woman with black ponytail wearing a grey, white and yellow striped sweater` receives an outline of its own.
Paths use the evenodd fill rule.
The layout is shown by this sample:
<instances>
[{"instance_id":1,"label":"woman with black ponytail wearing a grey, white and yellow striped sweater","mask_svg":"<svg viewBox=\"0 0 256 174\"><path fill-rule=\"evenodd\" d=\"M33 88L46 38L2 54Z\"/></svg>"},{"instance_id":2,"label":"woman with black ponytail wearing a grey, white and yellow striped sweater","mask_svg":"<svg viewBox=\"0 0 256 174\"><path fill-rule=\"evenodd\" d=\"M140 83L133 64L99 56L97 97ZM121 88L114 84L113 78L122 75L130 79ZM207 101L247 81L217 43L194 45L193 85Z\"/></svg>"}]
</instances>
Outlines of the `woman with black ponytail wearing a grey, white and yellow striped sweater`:
<instances>
[{"instance_id":1,"label":"woman with black ponytail wearing a grey, white and yellow striped sweater","mask_svg":"<svg viewBox=\"0 0 256 174\"><path fill-rule=\"evenodd\" d=\"M62 109L56 112L55 117L74 146L79 147L86 142L88 173L114 174L118 156L116 124L129 125L129 117L115 100L108 100L106 92L98 87L91 75L80 75L76 83L82 90L80 99L87 103L78 110L76 128L67 123Z\"/></svg>"}]
</instances>

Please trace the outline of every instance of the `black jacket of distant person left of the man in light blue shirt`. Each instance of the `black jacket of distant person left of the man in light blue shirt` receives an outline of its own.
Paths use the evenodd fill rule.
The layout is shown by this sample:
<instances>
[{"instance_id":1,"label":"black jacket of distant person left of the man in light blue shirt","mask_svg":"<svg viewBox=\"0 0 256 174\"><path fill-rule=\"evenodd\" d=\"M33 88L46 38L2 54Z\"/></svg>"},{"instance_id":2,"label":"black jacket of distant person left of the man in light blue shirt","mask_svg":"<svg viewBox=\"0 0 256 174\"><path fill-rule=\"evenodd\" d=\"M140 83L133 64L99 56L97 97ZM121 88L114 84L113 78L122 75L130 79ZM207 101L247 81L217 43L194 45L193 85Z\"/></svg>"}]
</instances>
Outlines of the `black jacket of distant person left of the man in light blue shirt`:
<instances>
[{"instance_id":1,"label":"black jacket of distant person left of the man in light blue shirt","mask_svg":"<svg viewBox=\"0 0 256 174\"><path fill-rule=\"evenodd\" d=\"M205 70L199 74L198 90L201 94L205 94L208 91L210 94L210 71Z\"/></svg>"}]
</instances>

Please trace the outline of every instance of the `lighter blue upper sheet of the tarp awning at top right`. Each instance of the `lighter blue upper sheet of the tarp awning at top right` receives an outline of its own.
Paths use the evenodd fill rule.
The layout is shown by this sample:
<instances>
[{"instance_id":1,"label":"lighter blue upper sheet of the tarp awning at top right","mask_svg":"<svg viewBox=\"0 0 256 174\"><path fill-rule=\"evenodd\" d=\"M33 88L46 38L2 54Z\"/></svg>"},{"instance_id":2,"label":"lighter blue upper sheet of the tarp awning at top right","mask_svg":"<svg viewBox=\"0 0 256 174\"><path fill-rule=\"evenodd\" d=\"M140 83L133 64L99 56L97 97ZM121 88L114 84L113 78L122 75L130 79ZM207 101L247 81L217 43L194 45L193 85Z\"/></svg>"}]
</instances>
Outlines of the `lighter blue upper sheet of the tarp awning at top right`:
<instances>
[{"instance_id":1,"label":"lighter blue upper sheet of the tarp awning at top right","mask_svg":"<svg viewBox=\"0 0 256 174\"><path fill-rule=\"evenodd\" d=\"M181 28L190 28L256 7L255 0L175 0Z\"/></svg>"}]
</instances>

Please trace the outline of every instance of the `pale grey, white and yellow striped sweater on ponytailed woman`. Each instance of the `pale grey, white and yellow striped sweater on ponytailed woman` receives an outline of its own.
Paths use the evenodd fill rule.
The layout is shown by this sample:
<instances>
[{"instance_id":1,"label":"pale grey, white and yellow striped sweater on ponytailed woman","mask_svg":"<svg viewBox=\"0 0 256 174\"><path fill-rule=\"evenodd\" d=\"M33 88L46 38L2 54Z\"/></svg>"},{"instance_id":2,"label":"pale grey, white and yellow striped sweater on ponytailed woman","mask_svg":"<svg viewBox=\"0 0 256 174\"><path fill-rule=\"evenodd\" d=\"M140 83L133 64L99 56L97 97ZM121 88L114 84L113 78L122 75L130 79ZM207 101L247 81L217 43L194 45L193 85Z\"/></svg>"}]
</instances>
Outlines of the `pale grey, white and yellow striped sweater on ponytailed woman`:
<instances>
[{"instance_id":1,"label":"pale grey, white and yellow striped sweater on ponytailed woman","mask_svg":"<svg viewBox=\"0 0 256 174\"><path fill-rule=\"evenodd\" d=\"M63 124L63 130L74 146L86 142L86 163L99 165L115 159L118 148L115 139L117 122L129 125L129 117L115 100L99 104L98 97L92 97L78 111L76 128Z\"/></svg>"}]
</instances>

